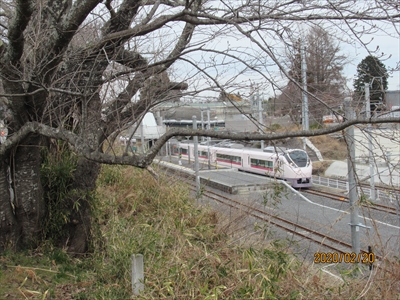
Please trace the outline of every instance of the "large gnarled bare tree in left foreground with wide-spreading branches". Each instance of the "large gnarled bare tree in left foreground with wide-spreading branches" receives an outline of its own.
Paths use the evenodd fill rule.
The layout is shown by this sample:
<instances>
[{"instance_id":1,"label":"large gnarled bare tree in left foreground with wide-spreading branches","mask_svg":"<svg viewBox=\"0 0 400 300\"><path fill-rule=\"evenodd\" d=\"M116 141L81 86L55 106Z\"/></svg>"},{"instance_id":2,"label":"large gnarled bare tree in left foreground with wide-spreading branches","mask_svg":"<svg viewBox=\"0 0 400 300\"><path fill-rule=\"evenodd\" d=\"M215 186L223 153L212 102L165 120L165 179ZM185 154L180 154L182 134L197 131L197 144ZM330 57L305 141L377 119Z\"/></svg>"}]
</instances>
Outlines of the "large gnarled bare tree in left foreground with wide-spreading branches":
<instances>
[{"instance_id":1,"label":"large gnarled bare tree in left foreground with wide-spreading branches","mask_svg":"<svg viewBox=\"0 0 400 300\"><path fill-rule=\"evenodd\" d=\"M192 94L234 93L254 84L279 88L271 68L291 77L278 55L296 23L328 22L360 39L376 30L376 22L396 30L400 18L387 1L6 0L0 9L0 96L10 112L9 137L0 146L0 250L31 245L40 235L46 213L41 149L63 141L79 156L70 185L75 206L61 241L76 253L87 248L88 195L101 163L147 168L176 135L272 140L369 121L275 135L174 129L144 154L104 153L104 143L128 122L190 86ZM170 79L166 72L173 65L182 71ZM258 78L249 82L250 74ZM107 92L111 87L114 92ZM385 120L393 121L379 122Z\"/></svg>"}]
</instances>

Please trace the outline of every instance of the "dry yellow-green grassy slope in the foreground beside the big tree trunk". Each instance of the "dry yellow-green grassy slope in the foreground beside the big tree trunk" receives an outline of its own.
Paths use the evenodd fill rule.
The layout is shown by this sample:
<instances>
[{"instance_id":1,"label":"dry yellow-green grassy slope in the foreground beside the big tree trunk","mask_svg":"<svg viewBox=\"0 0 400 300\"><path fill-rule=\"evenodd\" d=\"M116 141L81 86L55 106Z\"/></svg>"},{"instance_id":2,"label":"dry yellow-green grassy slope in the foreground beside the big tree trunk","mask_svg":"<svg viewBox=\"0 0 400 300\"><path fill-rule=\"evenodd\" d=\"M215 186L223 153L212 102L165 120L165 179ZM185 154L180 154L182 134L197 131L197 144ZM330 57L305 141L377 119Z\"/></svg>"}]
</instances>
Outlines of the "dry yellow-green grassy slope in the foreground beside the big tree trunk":
<instances>
[{"instance_id":1,"label":"dry yellow-green grassy slope in the foreground beside the big tree trunk","mask_svg":"<svg viewBox=\"0 0 400 300\"><path fill-rule=\"evenodd\" d=\"M140 299L398 297L398 263L387 266L390 273L344 269L343 281L337 280L320 265L300 262L284 241L255 242L240 212L227 221L224 213L196 206L187 187L171 176L157 182L146 171L104 166L93 213L86 257L46 244L1 254L0 299L130 299L134 253L144 255ZM246 235L251 242L243 242Z\"/></svg>"}]
</instances>

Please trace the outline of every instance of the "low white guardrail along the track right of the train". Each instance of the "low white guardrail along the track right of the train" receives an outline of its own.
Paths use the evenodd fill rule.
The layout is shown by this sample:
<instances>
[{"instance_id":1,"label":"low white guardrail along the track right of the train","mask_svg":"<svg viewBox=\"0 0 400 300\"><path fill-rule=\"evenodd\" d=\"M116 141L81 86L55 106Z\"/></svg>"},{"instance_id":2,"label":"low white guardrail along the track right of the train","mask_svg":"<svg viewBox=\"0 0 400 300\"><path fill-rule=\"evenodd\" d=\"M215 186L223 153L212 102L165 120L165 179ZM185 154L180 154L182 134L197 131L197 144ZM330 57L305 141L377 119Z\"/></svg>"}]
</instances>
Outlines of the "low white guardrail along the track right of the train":
<instances>
[{"instance_id":1,"label":"low white guardrail along the track right of the train","mask_svg":"<svg viewBox=\"0 0 400 300\"><path fill-rule=\"evenodd\" d=\"M344 180L321 177L321 176L313 176L312 177L313 184L322 185L342 191L349 192L349 183ZM376 200L381 201L389 201L389 202L399 202L400 201L400 193L398 191L384 189L384 188L375 188L376 190ZM368 187L357 187L358 195L369 195L371 196L371 189Z\"/></svg>"}]
</instances>

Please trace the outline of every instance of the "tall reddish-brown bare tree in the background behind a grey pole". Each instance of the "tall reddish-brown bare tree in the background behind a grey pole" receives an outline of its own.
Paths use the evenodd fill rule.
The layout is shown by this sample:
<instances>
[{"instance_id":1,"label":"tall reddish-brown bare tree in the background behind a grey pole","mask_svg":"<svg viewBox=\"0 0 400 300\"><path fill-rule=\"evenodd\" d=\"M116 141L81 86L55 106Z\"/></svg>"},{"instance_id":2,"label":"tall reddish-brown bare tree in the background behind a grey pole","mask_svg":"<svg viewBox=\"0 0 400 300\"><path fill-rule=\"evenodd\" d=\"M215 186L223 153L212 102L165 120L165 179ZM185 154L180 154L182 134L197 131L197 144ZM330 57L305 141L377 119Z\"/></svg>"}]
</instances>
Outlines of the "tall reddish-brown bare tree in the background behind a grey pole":
<instances>
[{"instance_id":1,"label":"tall reddish-brown bare tree in the background behind a grey pole","mask_svg":"<svg viewBox=\"0 0 400 300\"><path fill-rule=\"evenodd\" d=\"M279 96L279 101L285 103L289 109L295 110L291 112L292 118L298 117L296 110L301 108L303 80L301 47L304 47L307 66L307 91L310 93L310 117L320 122L322 116L330 112L330 107L343 102L346 78L342 71L346 58L340 55L338 42L327 30L316 25L311 27L303 40L294 41L292 47L292 49L288 49L288 59L290 64L289 75L294 81L288 81L287 86Z\"/></svg>"}]
</instances>

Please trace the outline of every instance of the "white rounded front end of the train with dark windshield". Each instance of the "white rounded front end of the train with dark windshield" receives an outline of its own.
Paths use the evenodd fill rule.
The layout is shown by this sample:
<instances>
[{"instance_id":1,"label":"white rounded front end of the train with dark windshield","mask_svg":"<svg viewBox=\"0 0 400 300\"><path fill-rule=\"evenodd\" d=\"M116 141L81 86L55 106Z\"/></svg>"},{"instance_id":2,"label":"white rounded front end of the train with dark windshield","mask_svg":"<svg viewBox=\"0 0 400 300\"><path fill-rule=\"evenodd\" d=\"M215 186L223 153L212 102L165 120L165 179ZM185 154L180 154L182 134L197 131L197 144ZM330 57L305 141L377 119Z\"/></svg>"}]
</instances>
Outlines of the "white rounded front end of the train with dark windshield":
<instances>
[{"instance_id":1,"label":"white rounded front end of the train with dark windshield","mask_svg":"<svg viewBox=\"0 0 400 300\"><path fill-rule=\"evenodd\" d=\"M312 162L301 149L287 150L283 155L284 177L294 188L312 187Z\"/></svg>"}]
</instances>

